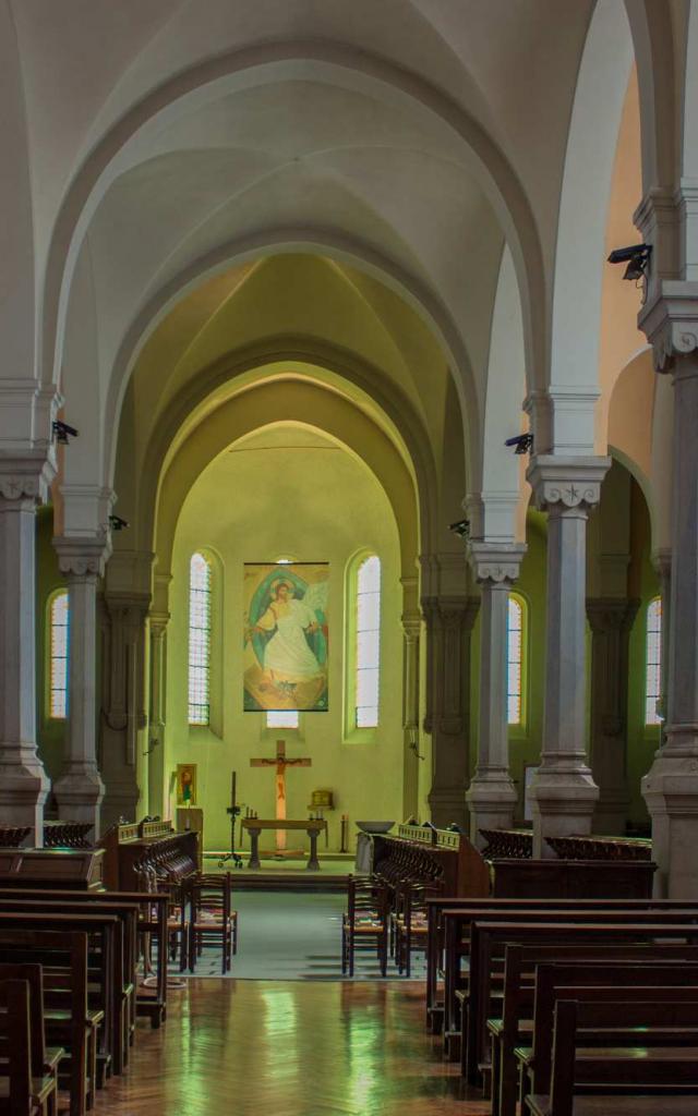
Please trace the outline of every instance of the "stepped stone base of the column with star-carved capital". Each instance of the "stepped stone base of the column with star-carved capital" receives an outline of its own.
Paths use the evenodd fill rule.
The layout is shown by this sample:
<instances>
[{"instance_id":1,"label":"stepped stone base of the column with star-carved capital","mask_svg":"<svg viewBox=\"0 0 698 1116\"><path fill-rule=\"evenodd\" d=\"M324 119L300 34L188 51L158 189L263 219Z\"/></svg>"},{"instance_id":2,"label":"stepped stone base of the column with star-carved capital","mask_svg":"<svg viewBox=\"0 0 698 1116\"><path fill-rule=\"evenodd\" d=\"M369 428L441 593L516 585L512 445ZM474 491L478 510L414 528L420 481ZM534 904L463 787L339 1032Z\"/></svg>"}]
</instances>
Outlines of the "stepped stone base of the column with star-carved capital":
<instances>
[{"instance_id":1,"label":"stepped stone base of the column with star-carved capital","mask_svg":"<svg viewBox=\"0 0 698 1116\"><path fill-rule=\"evenodd\" d=\"M592 831L599 787L587 767L541 768L530 788L533 855L553 859L546 837L584 837Z\"/></svg>"}]
</instances>

